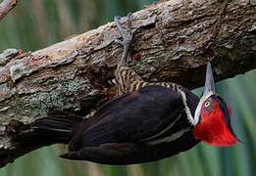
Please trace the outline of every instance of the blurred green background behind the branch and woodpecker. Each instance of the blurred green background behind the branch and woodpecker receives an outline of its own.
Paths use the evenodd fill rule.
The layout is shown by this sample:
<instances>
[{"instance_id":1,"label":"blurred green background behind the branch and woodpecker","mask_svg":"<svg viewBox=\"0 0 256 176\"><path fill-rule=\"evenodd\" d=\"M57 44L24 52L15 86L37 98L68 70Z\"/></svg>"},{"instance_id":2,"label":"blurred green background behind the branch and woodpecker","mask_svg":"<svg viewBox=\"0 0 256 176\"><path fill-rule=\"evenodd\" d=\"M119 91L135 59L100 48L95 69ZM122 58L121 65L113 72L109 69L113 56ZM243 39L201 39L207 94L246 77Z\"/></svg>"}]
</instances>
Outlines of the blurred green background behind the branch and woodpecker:
<instances>
[{"instance_id":1,"label":"blurred green background behind the branch and woodpecker","mask_svg":"<svg viewBox=\"0 0 256 176\"><path fill-rule=\"evenodd\" d=\"M0 52L7 48L35 51L82 33L116 15L142 9L153 0L23 0L0 22ZM253 176L256 174L256 70L221 81L217 90L232 110L239 139L230 148L199 144L157 162L128 166L60 159L66 147L39 149L0 169L0 176ZM201 89L194 90L200 95Z\"/></svg>"}]
</instances>

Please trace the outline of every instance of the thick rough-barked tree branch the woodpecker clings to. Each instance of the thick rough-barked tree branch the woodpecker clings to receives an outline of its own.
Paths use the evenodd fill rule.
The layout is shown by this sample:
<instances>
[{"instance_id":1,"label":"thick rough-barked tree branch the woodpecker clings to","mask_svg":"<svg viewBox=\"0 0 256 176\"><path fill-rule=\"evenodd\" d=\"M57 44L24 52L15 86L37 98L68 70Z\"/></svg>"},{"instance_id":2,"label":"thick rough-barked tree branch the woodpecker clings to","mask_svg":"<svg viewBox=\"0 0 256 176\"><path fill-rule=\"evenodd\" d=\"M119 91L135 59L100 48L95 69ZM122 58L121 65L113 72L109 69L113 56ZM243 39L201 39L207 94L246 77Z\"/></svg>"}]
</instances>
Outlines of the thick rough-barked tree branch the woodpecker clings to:
<instances>
[{"instance_id":1,"label":"thick rough-barked tree branch the woodpecker clings to","mask_svg":"<svg viewBox=\"0 0 256 176\"><path fill-rule=\"evenodd\" d=\"M256 2L172 0L133 14L130 66L147 81L202 86L205 64L221 80L256 67ZM125 22L123 18L122 22ZM0 55L0 165L36 149L12 144L5 125L48 107L86 115L111 98L122 48L114 22L32 53ZM23 129L23 128L21 128Z\"/></svg>"}]
</instances>

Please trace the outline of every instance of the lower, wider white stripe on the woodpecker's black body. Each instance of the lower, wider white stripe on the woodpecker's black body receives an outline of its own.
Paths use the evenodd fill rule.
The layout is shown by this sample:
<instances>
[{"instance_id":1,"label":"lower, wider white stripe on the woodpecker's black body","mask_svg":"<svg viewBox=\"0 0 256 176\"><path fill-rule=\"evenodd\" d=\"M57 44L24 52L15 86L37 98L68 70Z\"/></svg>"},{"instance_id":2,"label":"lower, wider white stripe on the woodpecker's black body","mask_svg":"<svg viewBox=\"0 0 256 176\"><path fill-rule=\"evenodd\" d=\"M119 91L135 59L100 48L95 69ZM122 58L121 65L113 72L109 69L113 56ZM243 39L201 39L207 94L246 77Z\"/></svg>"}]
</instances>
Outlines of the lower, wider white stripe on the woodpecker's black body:
<instances>
[{"instance_id":1,"label":"lower, wider white stripe on the woodpecker's black body","mask_svg":"<svg viewBox=\"0 0 256 176\"><path fill-rule=\"evenodd\" d=\"M185 132L190 131L190 130L191 130L190 127L187 127L187 128L184 128L176 133L173 133L171 136L167 136L165 138L158 139L155 141L149 141L146 144L151 146L151 145L158 145L161 143L169 143L169 142L175 141L176 139L180 138Z\"/></svg>"}]
</instances>

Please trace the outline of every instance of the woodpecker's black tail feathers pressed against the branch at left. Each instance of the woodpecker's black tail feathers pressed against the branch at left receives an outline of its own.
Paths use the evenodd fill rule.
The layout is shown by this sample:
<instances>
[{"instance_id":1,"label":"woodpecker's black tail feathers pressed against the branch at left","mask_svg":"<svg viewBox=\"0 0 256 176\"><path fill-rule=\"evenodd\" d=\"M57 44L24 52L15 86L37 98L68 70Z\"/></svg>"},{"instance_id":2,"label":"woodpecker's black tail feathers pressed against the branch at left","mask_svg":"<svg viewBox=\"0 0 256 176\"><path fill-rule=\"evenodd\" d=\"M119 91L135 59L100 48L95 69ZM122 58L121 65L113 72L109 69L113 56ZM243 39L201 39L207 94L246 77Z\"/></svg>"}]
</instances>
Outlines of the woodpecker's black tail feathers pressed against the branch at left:
<instances>
[{"instance_id":1,"label":"woodpecker's black tail feathers pressed against the branch at left","mask_svg":"<svg viewBox=\"0 0 256 176\"><path fill-rule=\"evenodd\" d=\"M45 146L69 144L83 118L68 113L52 113L29 125L29 132L18 135L15 142Z\"/></svg>"}]
</instances>

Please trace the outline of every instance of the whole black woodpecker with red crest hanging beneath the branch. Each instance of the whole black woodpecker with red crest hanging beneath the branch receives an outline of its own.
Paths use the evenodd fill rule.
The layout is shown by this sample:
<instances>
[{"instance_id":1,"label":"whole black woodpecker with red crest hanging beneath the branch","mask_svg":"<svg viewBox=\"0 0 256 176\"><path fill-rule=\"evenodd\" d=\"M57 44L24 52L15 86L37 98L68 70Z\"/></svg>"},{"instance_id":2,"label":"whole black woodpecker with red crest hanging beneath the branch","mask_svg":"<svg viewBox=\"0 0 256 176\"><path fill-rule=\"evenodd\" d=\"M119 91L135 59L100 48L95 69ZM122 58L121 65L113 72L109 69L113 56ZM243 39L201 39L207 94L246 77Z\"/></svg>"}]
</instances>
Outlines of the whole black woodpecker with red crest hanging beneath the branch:
<instances>
[{"instance_id":1,"label":"whole black woodpecker with red crest hanging beneath the branch","mask_svg":"<svg viewBox=\"0 0 256 176\"><path fill-rule=\"evenodd\" d=\"M159 160L187 151L200 141L216 146L235 144L230 107L216 94L209 63L201 98L175 83L145 82L126 66L132 38L130 19L128 14L125 32L115 18L123 36L123 41L116 42L124 47L115 72L119 96L90 118L49 113L30 124L33 134L24 141L68 144L68 152L60 155L63 158L115 165Z\"/></svg>"}]
</instances>

